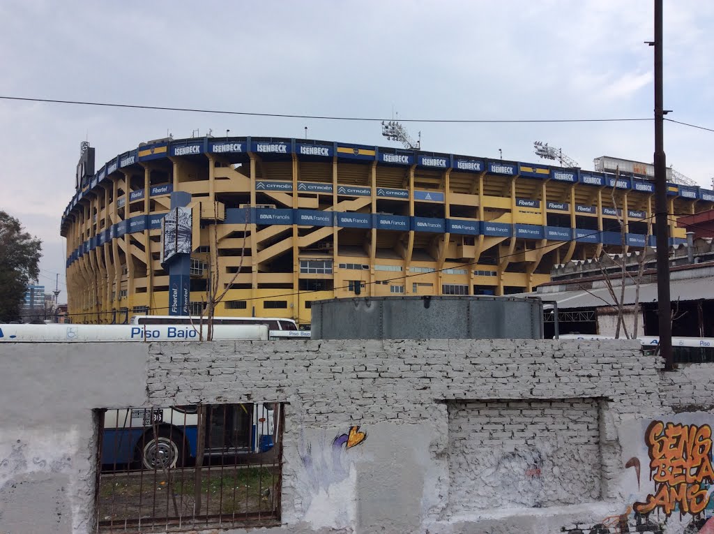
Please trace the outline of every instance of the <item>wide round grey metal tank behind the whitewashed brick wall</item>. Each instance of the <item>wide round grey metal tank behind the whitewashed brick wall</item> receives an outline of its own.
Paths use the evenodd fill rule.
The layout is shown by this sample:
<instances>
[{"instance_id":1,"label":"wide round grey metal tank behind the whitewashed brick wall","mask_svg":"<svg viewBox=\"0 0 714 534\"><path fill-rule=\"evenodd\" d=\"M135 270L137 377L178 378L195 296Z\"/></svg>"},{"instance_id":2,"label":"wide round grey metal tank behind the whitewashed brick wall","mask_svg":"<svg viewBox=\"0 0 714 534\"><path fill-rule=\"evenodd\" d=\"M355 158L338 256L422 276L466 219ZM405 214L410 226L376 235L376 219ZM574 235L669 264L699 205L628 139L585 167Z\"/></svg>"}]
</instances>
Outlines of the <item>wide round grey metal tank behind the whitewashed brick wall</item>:
<instances>
[{"instance_id":1,"label":"wide round grey metal tank behind the whitewashed brick wall","mask_svg":"<svg viewBox=\"0 0 714 534\"><path fill-rule=\"evenodd\" d=\"M313 300L313 340L540 339L539 299L488 296Z\"/></svg>"}]
</instances>

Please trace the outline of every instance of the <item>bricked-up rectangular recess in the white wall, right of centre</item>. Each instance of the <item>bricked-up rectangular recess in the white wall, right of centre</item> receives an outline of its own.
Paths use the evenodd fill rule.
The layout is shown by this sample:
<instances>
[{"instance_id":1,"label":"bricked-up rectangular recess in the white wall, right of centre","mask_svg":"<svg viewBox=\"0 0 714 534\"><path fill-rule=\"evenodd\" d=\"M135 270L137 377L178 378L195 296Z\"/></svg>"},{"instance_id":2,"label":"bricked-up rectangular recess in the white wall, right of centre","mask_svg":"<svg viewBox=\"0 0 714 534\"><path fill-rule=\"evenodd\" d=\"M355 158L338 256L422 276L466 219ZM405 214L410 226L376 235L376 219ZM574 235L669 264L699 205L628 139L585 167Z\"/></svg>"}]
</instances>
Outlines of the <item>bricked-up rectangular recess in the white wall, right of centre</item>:
<instances>
[{"instance_id":1,"label":"bricked-up rectangular recess in the white wall, right of centre","mask_svg":"<svg viewBox=\"0 0 714 534\"><path fill-rule=\"evenodd\" d=\"M450 402L451 511L600 498L596 399Z\"/></svg>"}]
</instances>

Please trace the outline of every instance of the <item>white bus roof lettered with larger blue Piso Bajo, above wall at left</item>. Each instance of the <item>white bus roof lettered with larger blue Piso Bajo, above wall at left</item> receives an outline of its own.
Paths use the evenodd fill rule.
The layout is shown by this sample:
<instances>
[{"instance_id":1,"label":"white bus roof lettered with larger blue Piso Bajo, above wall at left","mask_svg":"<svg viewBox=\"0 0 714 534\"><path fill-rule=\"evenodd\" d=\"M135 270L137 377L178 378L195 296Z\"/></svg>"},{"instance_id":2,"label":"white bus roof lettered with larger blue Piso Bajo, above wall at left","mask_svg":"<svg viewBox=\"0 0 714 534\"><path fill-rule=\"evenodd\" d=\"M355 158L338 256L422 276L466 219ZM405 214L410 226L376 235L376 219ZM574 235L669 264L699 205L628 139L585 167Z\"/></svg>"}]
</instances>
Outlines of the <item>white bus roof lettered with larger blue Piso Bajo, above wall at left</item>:
<instances>
[{"instance_id":1,"label":"white bus roof lettered with larger blue Piso Bajo, above wall at left","mask_svg":"<svg viewBox=\"0 0 714 534\"><path fill-rule=\"evenodd\" d=\"M206 339L208 327L202 327ZM174 325L0 325L1 342L198 341L198 326ZM266 325L216 325L213 341L268 340Z\"/></svg>"}]
</instances>

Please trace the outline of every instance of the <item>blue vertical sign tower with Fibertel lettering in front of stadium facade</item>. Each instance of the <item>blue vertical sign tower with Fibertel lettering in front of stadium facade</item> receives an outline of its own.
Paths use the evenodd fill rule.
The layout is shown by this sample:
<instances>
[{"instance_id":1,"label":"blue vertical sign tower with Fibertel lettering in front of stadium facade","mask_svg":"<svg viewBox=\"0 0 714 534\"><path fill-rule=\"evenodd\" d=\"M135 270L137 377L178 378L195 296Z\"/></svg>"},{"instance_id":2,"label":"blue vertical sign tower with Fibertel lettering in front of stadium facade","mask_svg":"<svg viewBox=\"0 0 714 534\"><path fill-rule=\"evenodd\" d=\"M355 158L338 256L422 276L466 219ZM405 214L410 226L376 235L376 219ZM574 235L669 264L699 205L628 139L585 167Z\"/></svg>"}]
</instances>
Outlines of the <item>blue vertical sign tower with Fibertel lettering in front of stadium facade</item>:
<instances>
[{"instance_id":1,"label":"blue vertical sign tower with Fibertel lettering in front of stadium facade","mask_svg":"<svg viewBox=\"0 0 714 534\"><path fill-rule=\"evenodd\" d=\"M169 315L188 315L191 300L191 194L171 193L171 211L161 222L161 264L169 269Z\"/></svg>"}]
</instances>

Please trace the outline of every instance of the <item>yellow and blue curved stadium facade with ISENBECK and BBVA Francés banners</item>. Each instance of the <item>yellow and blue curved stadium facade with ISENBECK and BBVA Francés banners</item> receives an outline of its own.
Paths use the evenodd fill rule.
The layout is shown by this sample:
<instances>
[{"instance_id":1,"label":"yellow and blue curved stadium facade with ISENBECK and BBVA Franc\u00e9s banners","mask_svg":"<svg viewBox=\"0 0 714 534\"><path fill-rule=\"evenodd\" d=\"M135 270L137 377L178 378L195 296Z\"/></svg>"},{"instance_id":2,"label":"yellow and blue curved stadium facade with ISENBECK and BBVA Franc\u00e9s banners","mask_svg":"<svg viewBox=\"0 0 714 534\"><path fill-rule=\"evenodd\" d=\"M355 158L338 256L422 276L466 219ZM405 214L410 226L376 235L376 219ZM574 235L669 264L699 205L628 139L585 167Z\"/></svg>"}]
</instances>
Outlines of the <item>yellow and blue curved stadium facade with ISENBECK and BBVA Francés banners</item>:
<instances>
[{"instance_id":1,"label":"yellow and blue curved stadium facade with ISENBECK and BBVA Franc\u00e9s banners","mask_svg":"<svg viewBox=\"0 0 714 534\"><path fill-rule=\"evenodd\" d=\"M654 244L643 177L458 154L265 137L164 139L77 184L67 240L74 322L167 315L161 219L191 194L191 310L208 280L217 315L290 317L333 297L508 295L553 264ZM714 192L668 186L674 217ZM625 238L621 228L624 225Z\"/></svg>"}]
</instances>

